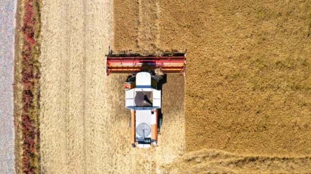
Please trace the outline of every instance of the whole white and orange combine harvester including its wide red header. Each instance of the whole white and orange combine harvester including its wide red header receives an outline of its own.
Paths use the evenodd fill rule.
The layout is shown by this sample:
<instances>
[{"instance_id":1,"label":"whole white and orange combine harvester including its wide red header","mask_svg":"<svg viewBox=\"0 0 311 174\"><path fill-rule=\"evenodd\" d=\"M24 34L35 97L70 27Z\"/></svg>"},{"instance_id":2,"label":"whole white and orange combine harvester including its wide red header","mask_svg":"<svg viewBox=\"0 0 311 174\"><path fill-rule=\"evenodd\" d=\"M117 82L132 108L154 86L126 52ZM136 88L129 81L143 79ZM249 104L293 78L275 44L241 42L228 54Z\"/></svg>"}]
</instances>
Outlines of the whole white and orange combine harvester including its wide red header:
<instances>
[{"instance_id":1,"label":"whole white and orange combine harvester including its wide red header","mask_svg":"<svg viewBox=\"0 0 311 174\"><path fill-rule=\"evenodd\" d=\"M123 85L125 107L131 111L129 126L133 148L157 146L162 125L161 90L166 73L185 75L186 53L162 51L157 54L109 49L105 57L106 75L128 74Z\"/></svg>"}]
</instances>

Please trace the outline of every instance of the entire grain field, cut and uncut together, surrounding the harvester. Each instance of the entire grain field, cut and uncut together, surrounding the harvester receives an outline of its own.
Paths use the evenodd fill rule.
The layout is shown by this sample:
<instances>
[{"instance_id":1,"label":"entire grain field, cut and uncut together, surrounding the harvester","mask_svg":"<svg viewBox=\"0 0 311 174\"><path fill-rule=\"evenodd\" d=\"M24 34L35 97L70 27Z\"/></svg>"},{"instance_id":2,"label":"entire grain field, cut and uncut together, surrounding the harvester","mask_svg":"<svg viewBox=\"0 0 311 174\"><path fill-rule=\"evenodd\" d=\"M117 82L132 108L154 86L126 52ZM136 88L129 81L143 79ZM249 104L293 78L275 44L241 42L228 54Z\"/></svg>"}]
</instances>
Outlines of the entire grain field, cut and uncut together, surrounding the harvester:
<instances>
[{"instance_id":1,"label":"entire grain field, cut and uncut together, surrounding the harvester","mask_svg":"<svg viewBox=\"0 0 311 174\"><path fill-rule=\"evenodd\" d=\"M42 5L42 172L310 172L310 1ZM109 46L187 49L186 76L163 86L159 147L130 146Z\"/></svg>"}]
</instances>

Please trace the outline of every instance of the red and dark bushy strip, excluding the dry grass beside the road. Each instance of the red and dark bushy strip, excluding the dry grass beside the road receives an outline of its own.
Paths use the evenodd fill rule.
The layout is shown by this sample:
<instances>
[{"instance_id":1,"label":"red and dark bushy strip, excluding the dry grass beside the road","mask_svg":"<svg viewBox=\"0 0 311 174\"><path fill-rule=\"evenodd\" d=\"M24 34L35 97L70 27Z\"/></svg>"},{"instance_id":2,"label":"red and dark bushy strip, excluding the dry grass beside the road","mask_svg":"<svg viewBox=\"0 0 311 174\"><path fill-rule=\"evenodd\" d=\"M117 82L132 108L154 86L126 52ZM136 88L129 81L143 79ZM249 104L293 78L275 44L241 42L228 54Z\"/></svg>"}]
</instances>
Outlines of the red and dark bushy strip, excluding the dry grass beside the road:
<instances>
[{"instance_id":1,"label":"red and dark bushy strip, excluding the dry grass beside the road","mask_svg":"<svg viewBox=\"0 0 311 174\"><path fill-rule=\"evenodd\" d=\"M23 154L21 170L26 173L39 172L39 127L38 127L38 43L39 36L39 4L36 0L25 0L23 24L21 26L21 78L23 86L21 110L21 134L23 138Z\"/></svg>"}]
</instances>

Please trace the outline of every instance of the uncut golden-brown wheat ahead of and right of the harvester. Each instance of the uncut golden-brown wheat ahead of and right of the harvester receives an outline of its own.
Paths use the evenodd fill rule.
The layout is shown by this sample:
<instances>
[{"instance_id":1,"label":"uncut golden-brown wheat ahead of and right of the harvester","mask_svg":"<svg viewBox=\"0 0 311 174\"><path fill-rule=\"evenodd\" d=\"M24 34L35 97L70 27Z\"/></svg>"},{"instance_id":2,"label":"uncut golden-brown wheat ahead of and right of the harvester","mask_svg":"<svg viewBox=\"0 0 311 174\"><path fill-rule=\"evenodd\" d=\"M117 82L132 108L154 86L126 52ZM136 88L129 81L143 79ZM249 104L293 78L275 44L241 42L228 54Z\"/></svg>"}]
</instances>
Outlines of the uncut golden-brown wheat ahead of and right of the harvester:
<instances>
[{"instance_id":1,"label":"uncut golden-brown wheat ahead of and right of the harvester","mask_svg":"<svg viewBox=\"0 0 311 174\"><path fill-rule=\"evenodd\" d=\"M239 162L229 160L232 167L220 172L260 172L260 168L309 172L310 5L310 1L115 1L114 45L187 49L185 156L231 153ZM165 171L215 172L228 161L220 155L194 165L184 158L168 164L168 170L164 166ZM243 160L248 158L260 159L253 163L257 169ZM277 162L271 162L275 158ZM197 155L191 159L200 161ZM213 162L219 165L213 168ZM282 170L283 162L291 168ZM211 170L196 170L201 165L210 165Z\"/></svg>"}]
</instances>

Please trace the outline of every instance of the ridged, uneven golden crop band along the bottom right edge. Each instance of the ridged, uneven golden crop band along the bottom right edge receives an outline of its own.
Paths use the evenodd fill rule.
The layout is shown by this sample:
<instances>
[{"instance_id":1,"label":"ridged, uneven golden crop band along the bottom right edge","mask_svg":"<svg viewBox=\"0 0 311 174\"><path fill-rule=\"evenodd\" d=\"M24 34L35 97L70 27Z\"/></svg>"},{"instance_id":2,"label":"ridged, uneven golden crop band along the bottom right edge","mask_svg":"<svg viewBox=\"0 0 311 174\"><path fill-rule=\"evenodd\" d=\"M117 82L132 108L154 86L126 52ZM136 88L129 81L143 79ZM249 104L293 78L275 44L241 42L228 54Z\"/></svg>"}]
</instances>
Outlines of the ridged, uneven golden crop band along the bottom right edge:
<instances>
[{"instance_id":1,"label":"ridged, uneven golden crop band along the bottom right edge","mask_svg":"<svg viewBox=\"0 0 311 174\"><path fill-rule=\"evenodd\" d=\"M309 173L311 157L240 155L203 149L162 167L164 173Z\"/></svg>"}]
</instances>

